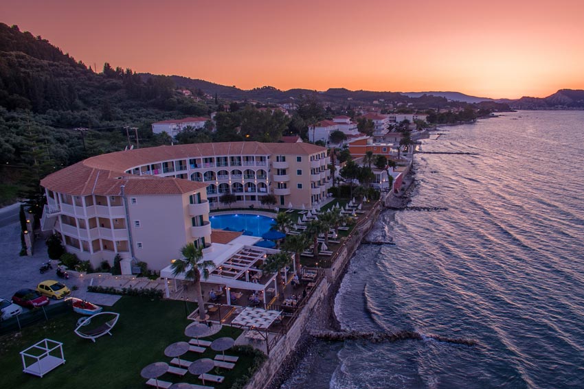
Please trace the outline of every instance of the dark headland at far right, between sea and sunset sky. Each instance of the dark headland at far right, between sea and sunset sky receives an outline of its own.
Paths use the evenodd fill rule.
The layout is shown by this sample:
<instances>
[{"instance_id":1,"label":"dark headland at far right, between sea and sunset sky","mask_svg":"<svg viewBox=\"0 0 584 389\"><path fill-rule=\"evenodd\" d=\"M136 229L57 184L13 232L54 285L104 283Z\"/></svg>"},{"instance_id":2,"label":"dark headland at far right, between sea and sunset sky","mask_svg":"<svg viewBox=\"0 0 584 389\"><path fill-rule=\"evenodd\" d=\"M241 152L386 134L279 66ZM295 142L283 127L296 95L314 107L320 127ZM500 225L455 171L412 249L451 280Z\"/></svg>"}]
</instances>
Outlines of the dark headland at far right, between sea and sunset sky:
<instances>
[{"instance_id":1,"label":"dark headland at far right, between sea and sunset sky","mask_svg":"<svg viewBox=\"0 0 584 389\"><path fill-rule=\"evenodd\" d=\"M520 99L498 99L497 102L508 104L514 109L581 110L584 109L584 91L582 89L560 89L548 97L524 96Z\"/></svg>"}]
</instances>

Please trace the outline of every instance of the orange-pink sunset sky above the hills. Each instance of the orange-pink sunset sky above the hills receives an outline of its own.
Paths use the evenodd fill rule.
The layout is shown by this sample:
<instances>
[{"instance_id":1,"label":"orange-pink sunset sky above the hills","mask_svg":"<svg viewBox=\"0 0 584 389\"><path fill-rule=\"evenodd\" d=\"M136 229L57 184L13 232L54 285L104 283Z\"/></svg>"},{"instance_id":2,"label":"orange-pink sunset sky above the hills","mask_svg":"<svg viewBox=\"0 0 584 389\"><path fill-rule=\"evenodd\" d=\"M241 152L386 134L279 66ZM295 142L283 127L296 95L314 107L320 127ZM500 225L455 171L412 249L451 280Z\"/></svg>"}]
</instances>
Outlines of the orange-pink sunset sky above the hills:
<instances>
[{"instance_id":1,"label":"orange-pink sunset sky above the hills","mask_svg":"<svg viewBox=\"0 0 584 389\"><path fill-rule=\"evenodd\" d=\"M584 0L2 0L0 21L98 69L242 89L584 89Z\"/></svg>"}]
</instances>

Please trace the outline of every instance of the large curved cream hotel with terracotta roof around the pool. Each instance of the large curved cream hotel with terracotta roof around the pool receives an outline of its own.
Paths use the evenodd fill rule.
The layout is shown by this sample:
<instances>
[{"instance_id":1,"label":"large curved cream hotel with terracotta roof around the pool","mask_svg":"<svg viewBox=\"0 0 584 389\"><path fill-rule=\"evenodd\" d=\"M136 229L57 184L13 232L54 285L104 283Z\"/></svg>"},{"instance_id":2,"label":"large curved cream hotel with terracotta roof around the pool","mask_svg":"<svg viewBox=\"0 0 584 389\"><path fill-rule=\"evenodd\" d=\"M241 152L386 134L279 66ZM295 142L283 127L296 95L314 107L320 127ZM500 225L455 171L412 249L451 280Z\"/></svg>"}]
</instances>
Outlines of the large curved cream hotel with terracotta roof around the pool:
<instances>
[{"instance_id":1,"label":"large curved cream hotel with terracotta roof around the pool","mask_svg":"<svg viewBox=\"0 0 584 389\"><path fill-rule=\"evenodd\" d=\"M209 212L223 193L240 205L258 207L272 193L280 207L311 207L331 185L329 163L326 148L308 143L199 143L93 156L41 180L42 227L94 267L120 254L126 274L133 259L161 270L185 244L210 250Z\"/></svg>"}]
</instances>

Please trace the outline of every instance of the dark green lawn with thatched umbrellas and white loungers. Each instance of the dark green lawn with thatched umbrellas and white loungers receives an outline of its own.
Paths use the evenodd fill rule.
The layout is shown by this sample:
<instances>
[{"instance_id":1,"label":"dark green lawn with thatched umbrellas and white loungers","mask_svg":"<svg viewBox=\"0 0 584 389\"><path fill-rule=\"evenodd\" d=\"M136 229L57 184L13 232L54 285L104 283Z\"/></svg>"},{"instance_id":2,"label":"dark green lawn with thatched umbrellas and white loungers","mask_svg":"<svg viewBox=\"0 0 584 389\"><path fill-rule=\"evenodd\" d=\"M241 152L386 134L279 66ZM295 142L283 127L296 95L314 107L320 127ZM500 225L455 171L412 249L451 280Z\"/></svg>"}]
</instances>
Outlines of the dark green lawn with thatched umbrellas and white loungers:
<instances>
[{"instance_id":1,"label":"dark green lawn with thatched umbrellas and white loungers","mask_svg":"<svg viewBox=\"0 0 584 389\"><path fill-rule=\"evenodd\" d=\"M146 388L146 379L140 377L144 366L152 362L170 362L164 355L166 346L173 342L188 341L185 327L192 321L185 317L185 305L175 300L148 300L141 297L124 296L111 309L120 314L120 320L111 331L96 340L79 338L74 334L80 317L72 310L63 316L41 322L0 338L0 360L2 374L0 388L32 389L46 388ZM240 329L224 327L207 340L229 336L237 338ZM20 351L32 344L49 338L63 342L66 363L40 377L22 373ZM254 364L249 354L230 350L229 355L240 356L233 370L212 370L210 373L225 376L218 389L231 388L238 377L247 374ZM214 358L215 351L207 347L203 354L186 353L183 359L195 360L201 357ZM187 373L184 377L166 373L160 379L170 382L202 382Z\"/></svg>"}]
</instances>

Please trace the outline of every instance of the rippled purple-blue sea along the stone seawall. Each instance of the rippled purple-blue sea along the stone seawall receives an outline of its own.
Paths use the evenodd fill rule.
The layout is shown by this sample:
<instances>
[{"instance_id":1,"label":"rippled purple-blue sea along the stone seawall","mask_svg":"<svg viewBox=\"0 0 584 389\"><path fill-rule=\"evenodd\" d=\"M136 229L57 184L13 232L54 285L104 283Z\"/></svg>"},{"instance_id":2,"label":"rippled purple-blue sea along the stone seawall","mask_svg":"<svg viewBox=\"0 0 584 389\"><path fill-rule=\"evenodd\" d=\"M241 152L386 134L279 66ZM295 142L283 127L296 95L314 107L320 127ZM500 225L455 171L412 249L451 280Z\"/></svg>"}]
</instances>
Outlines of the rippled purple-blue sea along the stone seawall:
<instances>
[{"instance_id":1,"label":"rippled purple-blue sea along the stone seawall","mask_svg":"<svg viewBox=\"0 0 584 389\"><path fill-rule=\"evenodd\" d=\"M319 340L282 388L584 388L584 112L437 132L335 300L342 329L421 340Z\"/></svg>"}]
</instances>

